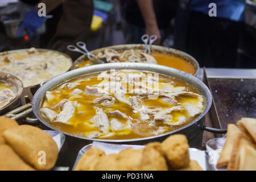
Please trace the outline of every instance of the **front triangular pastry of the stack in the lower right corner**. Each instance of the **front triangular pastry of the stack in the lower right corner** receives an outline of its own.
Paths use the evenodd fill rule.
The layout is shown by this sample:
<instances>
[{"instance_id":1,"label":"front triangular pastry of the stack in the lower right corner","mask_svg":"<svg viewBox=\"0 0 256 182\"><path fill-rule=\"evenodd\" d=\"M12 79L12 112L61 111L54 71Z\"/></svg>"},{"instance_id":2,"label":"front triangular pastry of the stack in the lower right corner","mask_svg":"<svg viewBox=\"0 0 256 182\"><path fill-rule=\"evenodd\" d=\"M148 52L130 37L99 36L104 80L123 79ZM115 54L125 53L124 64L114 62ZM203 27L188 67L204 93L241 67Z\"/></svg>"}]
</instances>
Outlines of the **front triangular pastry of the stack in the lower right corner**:
<instances>
[{"instance_id":1,"label":"front triangular pastry of the stack in the lower right corner","mask_svg":"<svg viewBox=\"0 0 256 182\"><path fill-rule=\"evenodd\" d=\"M243 134L240 134L236 139L228 170L256 171L256 146Z\"/></svg>"}]
</instances>

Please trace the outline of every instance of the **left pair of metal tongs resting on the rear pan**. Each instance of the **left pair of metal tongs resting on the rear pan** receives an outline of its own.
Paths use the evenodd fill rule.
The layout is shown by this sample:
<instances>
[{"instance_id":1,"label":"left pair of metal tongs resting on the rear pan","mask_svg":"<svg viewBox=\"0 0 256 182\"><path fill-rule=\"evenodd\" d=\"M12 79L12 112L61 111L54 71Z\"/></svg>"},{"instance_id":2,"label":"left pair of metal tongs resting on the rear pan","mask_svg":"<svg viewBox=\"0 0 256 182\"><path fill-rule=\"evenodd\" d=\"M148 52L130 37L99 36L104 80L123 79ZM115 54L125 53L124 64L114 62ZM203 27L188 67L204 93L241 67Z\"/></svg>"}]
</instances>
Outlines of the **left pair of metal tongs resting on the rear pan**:
<instances>
[{"instance_id":1,"label":"left pair of metal tongs resting on the rear pan","mask_svg":"<svg viewBox=\"0 0 256 182\"><path fill-rule=\"evenodd\" d=\"M93 64L109 63L109 60L106 57L101 58L101 57L94 55L93 53L90 53L88 51L88 49L86 48L86 44L84 42L77 42L76 46L69 45L67 48L69 49L69 51L80 52L80 53L86 55L88 57L88 59L93 62ZM92 57L96 58L97 60L93 60Z\"/></svg>"}]
</instances>

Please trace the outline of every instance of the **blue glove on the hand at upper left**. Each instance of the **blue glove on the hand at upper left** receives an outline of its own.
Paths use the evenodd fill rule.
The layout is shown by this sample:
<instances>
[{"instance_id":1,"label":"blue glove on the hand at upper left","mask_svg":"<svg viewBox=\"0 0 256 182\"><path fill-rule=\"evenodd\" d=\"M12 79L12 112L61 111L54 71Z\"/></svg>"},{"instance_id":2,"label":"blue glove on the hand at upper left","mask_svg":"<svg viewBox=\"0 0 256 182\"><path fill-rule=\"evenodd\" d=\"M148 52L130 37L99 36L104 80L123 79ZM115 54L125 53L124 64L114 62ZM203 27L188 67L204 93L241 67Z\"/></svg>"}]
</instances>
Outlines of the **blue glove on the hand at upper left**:
<instances>
[{"instance_id":1,"label":"blue glove on the hand at upper left","mask_svg":"<svg viewBox=\"0 0 256 182\"><path fill-rule=\"evenodd\" d=\"M23 19L22 24L19 27L17 36L22 36L22 32L26 29L28 38L32 38L33 35L37 36L38 31L37 28L41 27L44 22L44 16L38 16L38 12L33 8L32 10L28 11Z\"/></svg>"}]
</instances>

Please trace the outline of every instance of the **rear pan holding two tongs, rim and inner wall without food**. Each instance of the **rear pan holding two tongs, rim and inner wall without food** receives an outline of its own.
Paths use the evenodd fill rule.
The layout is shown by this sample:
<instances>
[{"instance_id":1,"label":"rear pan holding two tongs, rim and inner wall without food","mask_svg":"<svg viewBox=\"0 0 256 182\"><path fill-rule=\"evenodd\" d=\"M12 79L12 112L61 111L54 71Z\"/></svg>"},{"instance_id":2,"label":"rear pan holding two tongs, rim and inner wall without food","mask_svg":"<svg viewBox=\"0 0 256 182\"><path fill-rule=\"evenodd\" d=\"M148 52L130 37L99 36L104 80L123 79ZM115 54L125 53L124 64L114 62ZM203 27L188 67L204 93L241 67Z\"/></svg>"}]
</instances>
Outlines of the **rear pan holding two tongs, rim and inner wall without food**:
<instances>
[{"instance_id":1,"label":"rear pan holding two tongs, rim and inner wall without food","mask_svg":"<svg viewBox=\"0 0 256 182\"><path fill-rule=\"evenodd\" d=\"M123 45L117 45L117 46L110 46L110 47L104 47L104 48L100 48L100 49L95 49L93 51L90 51L90 53L93 53L94 55L97 55L97 53L104 51L104 49L114 49L117 52L122 52L122 51L126 51L129 49L139 49L144 51L145 46L144 44L123 44ZM191 64L193 66L193 68L195 68L195 75L197 76L199 73L199 64L197 63L196 59L194 57L192 57L191 55L188 55L187 53L183 52L183 51L179 51L177 49L173 49L173 48L168 48L168 47L163 47L163 46L155 46L152 45L151 46L151 52L159 52L159 53L165 53L167 55L172 55L175 57L179 57L185 61L187 61L189 64ZM81 64L84 60L88 60L88 58L85 55L80 56L79 58L77 58L75 60L75 62L73 63L71 70L76 69L78 67L79 64Z\"/></svg>"}]
</instances>

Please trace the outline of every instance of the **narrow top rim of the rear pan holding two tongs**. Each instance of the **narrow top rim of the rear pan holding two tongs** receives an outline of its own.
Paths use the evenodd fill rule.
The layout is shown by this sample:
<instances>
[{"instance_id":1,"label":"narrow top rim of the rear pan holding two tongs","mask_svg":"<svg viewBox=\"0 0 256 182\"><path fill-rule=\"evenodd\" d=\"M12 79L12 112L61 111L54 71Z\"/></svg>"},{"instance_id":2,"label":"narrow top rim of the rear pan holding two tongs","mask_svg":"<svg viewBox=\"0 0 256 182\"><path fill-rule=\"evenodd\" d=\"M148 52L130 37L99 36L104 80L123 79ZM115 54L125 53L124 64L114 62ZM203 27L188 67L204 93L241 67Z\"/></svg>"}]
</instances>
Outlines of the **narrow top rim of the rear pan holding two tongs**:
<instances>
[{"instance_id":1,"label":"narrow top rim of the rear pan holding two tongs","mask_svg":"<svg viewBox=\"0 0 256 182\"><path fill-rule=\"evenodd\" d=\"M109 47L103 47L103 48L99 48L99 49L94 49L93 51L90 51L90 53L95 53L95 52L100 52L100 51L103 51L104 49L106 48L125 48L125 47L131 47L131 48L136 48L136 47L144 47L144 44L121 44L121 45L116 45L116 46L109 46ZM151 49L157 49L157 50L162 50L162 51L167 51L167 52L173 52L173 53L176 53L176 54L180 54L180 55L183 55L183 56L186 56L188 57L189 59L193 60L193 63L195 63L196 67L196 73L193 75L193 76L197 76L198 73L199 73L199 63L197 62L197 60L195 59L195 57L189 55L188 53L185 53L183 51L180 51L180 50L177 50L177 49L174 49L174 48L170 48L170 47L164 47L164 46L156 46L156 45L152 45L151 46ZM81 55L80 57L78 57L72 67L71 67L71 70L75 69L75 65L79 64L79 62L81 60L83 60L85 57L85 55Z\"/></svg>"}]
</instances>

